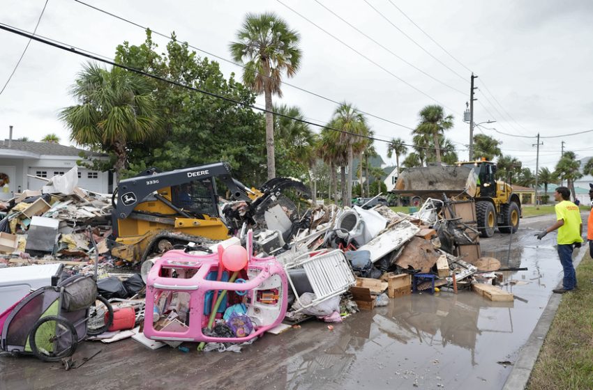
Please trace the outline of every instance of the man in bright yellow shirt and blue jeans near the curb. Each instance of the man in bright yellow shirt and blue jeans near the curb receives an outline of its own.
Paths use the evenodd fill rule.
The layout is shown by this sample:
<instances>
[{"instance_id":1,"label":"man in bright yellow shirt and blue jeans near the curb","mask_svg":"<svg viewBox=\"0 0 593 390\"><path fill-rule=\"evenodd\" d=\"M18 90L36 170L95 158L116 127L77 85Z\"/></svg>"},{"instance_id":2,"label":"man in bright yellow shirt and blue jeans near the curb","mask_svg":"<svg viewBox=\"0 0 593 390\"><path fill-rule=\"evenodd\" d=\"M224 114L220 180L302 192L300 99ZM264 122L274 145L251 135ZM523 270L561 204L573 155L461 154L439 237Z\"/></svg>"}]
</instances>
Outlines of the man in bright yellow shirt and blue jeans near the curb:
<instances>
[{"instance_id":1,"label":"man in bright yellow shirt and blue jeans near the curb","mask_svg":"<svg viewBox=\"0 0 593 390\"><path fill-rule=\"evenodd\" d=\"M566 187L557 187L554 192L554 199L559 202L555 205L556 223L536 234L537 239L541 240L546 234L558 229L557 247L560 263L564 270L564 279L562 279L562 288L555 288L553 292L564 294L564 292L576 288L576 272L572 263L572 253L575 247L580 247L583 242L583 220L580 218L578 205L569 201L571 192Z\"/></svg>"}]
</instances>

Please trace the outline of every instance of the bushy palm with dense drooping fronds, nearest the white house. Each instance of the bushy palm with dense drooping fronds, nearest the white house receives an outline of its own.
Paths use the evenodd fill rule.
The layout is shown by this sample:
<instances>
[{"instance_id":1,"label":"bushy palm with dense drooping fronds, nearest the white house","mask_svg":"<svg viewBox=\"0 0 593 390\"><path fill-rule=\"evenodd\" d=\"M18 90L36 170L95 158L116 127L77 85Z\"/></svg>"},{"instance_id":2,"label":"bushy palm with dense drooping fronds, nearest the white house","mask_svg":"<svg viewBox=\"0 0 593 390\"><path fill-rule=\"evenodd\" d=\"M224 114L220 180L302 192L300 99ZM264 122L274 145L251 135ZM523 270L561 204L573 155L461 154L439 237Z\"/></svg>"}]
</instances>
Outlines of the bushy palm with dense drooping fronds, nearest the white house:
<instances>
[{"instance_id":1,"label":"bushy palm with dense drooping fronds, nearest the white house","mask_svg":"<svg viewBox=\"0 0 593 390\"><path fill-rule=\"evenodd\" d=\"M128 143L151 141L160 130L149 84L127 70L106 70L89 63L78 74L70 93L80 102L60 113L70 128L70 140L114 153L119 180L126 169Z\"/></svg>"}]
</instances>

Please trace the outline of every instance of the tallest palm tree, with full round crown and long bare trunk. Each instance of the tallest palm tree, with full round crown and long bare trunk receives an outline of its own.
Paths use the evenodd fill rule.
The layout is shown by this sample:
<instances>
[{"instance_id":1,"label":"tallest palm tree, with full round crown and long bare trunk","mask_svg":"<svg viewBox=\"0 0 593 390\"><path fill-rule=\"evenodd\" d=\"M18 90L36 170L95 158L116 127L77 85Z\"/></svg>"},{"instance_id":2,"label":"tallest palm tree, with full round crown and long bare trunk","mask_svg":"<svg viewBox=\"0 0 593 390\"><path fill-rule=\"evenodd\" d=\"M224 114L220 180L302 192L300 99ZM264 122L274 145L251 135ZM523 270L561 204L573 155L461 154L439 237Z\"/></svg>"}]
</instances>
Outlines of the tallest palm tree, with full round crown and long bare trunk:
<instances>
[{"instance_id":1,"label":"tallest palm tree, with full round crown and long bare trunk","mask_svg":"<svg viewBox=\"0 0 593 390\"><path fill-rule=\"evenodd\" d=\"M282 74L293 77L299 69L299 33L274 13L249 13L237 31L238 42L230 44L234 61L245 64L243 82L255 93L264 93L266 102L266 149L268 179L276 177L272 95L282 97Z\"/></svg>"}]
</instances>

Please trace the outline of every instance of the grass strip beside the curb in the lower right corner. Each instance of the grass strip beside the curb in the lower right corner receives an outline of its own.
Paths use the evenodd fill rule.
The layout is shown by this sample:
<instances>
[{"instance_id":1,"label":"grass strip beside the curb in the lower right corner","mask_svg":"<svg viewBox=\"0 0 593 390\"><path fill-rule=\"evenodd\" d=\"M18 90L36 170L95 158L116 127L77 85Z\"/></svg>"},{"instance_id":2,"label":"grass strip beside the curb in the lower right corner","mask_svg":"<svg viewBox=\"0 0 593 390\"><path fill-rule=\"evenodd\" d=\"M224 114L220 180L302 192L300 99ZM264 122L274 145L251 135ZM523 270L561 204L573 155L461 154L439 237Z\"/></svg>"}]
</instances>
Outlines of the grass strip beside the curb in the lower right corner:
<instances>
[{"instance_id":1,"label":"grass strip beside the curb in the lower right corner","mask_svg":"<svg viewBox=\"0 0 593 390\"><path fill-rule=\"evenodd\" d=\"M578 290L562 296L528 390L593 389L593 260L576 270Z\"/></svg>"}]
</instances>

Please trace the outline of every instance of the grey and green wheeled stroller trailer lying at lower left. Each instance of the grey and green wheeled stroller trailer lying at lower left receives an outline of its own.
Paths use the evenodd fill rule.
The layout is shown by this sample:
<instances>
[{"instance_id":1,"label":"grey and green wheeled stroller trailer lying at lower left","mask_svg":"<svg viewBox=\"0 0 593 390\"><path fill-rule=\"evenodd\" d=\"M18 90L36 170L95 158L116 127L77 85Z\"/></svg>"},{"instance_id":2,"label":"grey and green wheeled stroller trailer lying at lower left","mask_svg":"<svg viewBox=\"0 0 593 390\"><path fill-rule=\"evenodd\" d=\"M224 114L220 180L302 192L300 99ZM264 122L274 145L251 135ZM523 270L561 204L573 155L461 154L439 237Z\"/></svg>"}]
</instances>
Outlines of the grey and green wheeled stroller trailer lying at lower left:
<instances>
[{"instance_id":1,"label":"grey and green wheeled stroller trailer lying at lower left","mask_svg":"<svg viewBox=\"0 0 593 390\"><path fill-rule=\"evenodd\" d=\"M98 251L93 275L76 274L23 297L0 313L0 350L33 354L43 361L71 356L87 335L101 334L113 321L113 309L97 293Z\"/></svg>"}]
</instances>

